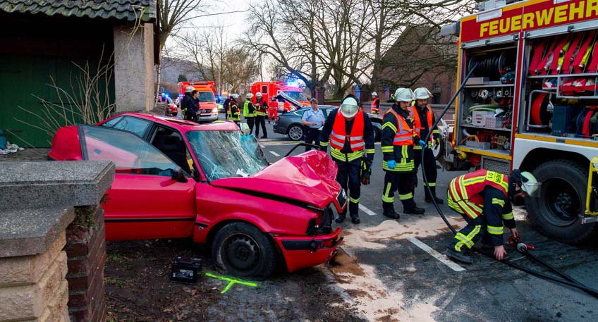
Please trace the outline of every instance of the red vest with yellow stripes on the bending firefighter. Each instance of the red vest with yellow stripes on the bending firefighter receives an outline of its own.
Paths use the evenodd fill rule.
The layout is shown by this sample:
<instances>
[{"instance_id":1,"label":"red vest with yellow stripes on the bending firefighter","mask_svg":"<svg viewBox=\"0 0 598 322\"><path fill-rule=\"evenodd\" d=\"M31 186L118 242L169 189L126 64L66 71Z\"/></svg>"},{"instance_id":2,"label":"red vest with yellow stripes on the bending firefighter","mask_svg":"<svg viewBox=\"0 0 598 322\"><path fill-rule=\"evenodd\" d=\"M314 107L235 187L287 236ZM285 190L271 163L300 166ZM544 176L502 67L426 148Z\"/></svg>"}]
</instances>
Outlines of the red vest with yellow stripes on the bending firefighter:
<instances>
[{"instance_id":1,"label":"red vest with yellow stripes on the bending firefighter","mask_svg":"<svg viewBox=\"0 0 598 322\"><path fill-rule=\"evenodd\" d=\"M484 209L484 197L480 192L491 186L508 197L508 175L480 169L460 175L448 185L448 206L475 219Z\"/></svg>"}]
</instances>

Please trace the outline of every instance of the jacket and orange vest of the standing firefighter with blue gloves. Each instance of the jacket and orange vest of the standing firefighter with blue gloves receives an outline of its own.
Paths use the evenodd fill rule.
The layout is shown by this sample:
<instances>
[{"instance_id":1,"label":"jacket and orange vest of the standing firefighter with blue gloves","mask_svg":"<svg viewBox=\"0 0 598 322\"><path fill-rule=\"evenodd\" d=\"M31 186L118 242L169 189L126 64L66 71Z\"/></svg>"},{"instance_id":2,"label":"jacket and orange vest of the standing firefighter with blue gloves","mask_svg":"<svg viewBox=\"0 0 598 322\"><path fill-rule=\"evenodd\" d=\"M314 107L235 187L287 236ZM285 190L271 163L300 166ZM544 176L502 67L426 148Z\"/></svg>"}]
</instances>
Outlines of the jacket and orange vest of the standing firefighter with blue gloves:
<instances>
[{"instance_id":1,"label":"jacket and orange vest of the standing firefighter with blue gloves","mask_svg":"<svg viewBox=\"0 0 598 322\"><path fill-rule=\"evenodd\" d=\"M393 105L382 118L382 169L389 172L410 172L415 168L413 162L413 119L409 111L403 111ZM419 137L417 137L419 141ZM417 142L416 141L416 142ZM394 169L387 162L394 160Z\"/></svg>"}]
</instances>

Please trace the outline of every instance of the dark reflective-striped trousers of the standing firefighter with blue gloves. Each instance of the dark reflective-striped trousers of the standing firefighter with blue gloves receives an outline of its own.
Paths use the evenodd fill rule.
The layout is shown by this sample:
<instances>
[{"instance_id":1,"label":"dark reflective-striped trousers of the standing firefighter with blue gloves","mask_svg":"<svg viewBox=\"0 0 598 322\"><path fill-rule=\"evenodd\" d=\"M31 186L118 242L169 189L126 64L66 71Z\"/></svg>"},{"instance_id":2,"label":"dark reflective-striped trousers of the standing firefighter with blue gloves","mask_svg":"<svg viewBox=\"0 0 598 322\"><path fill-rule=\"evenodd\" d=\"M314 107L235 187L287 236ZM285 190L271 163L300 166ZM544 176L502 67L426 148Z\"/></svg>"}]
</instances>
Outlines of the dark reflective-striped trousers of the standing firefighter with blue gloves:
<instances>
[{"instance_id":1,"label":"dark reflective-striped trousers of the standing firefighter with blue gloves","mask_svg":"<svg viewBox=\"0 0 598 322\"><path fill-rule=\"evenodd\" d=\"M384 190L382 191L382 209L384 212L394 209L394 192L398 190L398 199L403 203L403 210L409 211L415 208L413 192L410 190L410 182L413 180L413 172L392 172L386 171L384 175Z\"/></svg>"}]
</instances>

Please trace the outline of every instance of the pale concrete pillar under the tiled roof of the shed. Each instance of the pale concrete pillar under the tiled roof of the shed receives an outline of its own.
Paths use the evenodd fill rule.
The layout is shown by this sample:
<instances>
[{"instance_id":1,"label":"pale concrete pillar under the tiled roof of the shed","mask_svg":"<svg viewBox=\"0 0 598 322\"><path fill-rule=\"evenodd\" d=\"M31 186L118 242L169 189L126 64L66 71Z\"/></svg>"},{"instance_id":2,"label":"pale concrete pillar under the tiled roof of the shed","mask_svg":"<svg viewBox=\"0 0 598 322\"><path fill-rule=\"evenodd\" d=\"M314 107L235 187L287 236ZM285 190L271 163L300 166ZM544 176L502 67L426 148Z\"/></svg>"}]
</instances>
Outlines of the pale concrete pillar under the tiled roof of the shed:
<instances>
[{"instance_id":1,"label":"pale concrete pillar under the tiled roof of the shed","mask_svg":"<svg viewBox=\"0 0 598 322\"><path fill-rule=\"evenodd\" d=\"M154 27L133 23L114 25L115 113L154 108Z\"/></svg>"}]
</instances>

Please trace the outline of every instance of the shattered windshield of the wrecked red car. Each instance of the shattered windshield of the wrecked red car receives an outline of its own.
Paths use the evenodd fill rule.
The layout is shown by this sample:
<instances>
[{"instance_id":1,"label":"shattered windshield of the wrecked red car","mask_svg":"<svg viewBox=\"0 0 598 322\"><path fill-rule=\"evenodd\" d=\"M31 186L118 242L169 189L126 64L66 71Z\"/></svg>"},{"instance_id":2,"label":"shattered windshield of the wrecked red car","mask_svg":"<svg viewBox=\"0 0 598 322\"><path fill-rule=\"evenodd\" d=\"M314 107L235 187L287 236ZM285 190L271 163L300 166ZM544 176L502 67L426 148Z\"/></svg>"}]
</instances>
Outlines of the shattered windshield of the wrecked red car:
<instances>
[{"instance_id":1,"label":"shattered windshield of the wrecked red car","mask_svg":"<svg viewBox=\"0 0 598 322\"><path fill-rule=\"evenodd\" d=\"M240 130L192 131L187 140L207 180L248 177L268 166L255 136L241 136Z\"/></svg>"}]
</instances>

